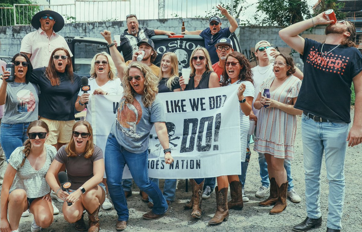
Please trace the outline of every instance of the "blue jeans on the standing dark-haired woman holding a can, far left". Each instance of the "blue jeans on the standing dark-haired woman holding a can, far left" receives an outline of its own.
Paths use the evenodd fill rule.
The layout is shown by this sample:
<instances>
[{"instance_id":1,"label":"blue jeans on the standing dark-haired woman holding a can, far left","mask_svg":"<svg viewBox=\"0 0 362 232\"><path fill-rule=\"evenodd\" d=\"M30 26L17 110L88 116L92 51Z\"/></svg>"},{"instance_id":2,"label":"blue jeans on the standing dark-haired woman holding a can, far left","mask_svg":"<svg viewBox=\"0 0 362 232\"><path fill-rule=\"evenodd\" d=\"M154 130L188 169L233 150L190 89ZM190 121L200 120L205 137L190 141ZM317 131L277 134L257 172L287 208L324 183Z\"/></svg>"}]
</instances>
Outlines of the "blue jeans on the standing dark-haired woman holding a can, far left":
<instances>
[{"instance_id":1,"label":"blue jeans on the standing dark-haired woman holding a can, far left","mask_svg":"<svg viewBox=\"0 0 362 232\"><path fill-rule=\"evenodd\" d=\"M6 159L10 158L11 153L21 147L28 139L26 130L30 122L8 124L1 122L0 139L3 146Z\"/></svg>"}]
</instances>

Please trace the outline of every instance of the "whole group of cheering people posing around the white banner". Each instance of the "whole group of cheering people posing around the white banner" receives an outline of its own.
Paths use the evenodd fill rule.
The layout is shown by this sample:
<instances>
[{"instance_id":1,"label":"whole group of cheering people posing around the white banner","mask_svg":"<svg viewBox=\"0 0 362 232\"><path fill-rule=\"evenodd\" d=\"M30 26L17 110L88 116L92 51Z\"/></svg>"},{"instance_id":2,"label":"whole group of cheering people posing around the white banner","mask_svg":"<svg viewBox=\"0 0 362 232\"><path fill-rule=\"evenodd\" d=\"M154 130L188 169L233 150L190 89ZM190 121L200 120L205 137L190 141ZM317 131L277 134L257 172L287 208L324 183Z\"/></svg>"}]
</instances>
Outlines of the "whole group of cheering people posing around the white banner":
<instances>
[{"instance_id":1,"label":"whole group of cheering people posing around the white banner","mask_svg":"<svg viewBox=\"0 0 362 232\"><path fill-rule=\"evenodd\" d=\"M49 227L53 214L59 213L52 204L51 195L64 201L64 219L75 223L77 230L99 231L100 206L109 203L106 186L118 215L115 227L125 229L129 220L127 197L132 194L132 181L125 179L122 183L126 164L141 190L142 200L148 201L152 208L143 218L163 217L168 205L175 200L177 180L165 180L162 193L159 180L148 178L147 149L153 126L164 149L165 163L173 162L165 112L157 93L229 85L238 85L235 97L239 100L240 111L240 135L237 136L241 144L241 174L216 177L217 186L215 178L191 179L192 196L184 206L192 210L191 217L201 218L202 199L210 197L214 186L216 212L209 221L211 225L226 221L229 209L241 210L243 202L248 201L244 185L251 154L249 120L256 124L254 151L258 153L262 179L256 196L264 197L270 191L269 197L259 205L273 205L270 214L279 214L287 207L287 197L299 202L300 197L292 185L290 160L294 157L296 115L302 115L307 218L293 229L308 231L321 226L319 176L325 151L330 186L327 232L340 231L345 149L347 145L362 142L362 109L358 105L362 55L354 48L354 25L346 20L327 20L325 13L321 13L282 29L281 38L301 54L304 74L295 67L291 56L276 50L270 54L275 61L269 63L266 49L271 45L266 40L255 45L259 64L252 68L243 54L233 51L231 40L227 38L237 28L235 18L225 8L218 8L229 20L229 28L222 29L220 18L214 16L209 20L209 28L185 31L185 34L199 34L205 38L205 48L195 48L191 54L189 77L179 76L177 56L173 52L163 54L160 67L152 64L157 52L148 37L173 32L139 28L135 14L126 17L127 30L121 35L118 47L110 31L101 32L108 42L110 55L101 52L92 59L89 79L92 95L122 95L116 118L110 119L114 123L104 151L93 144L90 112L96 109L89 104L92 96L80 91L81 80L73 72L72 54L66 43L58 41L61 38L56 32L64 25L62 16L51 10L35 14L31 23L37 31L24 37L20 53L12 59L14 82L6 81L9 71L3 70L1 75L0 105L5 104L5 111L0 142L8 160L0 199L1 232L18 231L20 218L28 209L34 215L32 232ZM325 43L298 35L321 24L329 24ZM42 46L39 41L46 41L49 46ZM141 53L144 56L138 62L136 59ZM323 61L331 53L347 58L339 59L342 65ZM40 62L47 56L46 63ZM322 61L328 63L330 71L322 68ZM186 78L189 78L188 84L185 84ZM352 81L356 107L354 124L349 130ZM331 96L330 89L336 88L340 89L340 94ZM266 89L270 97L264 94ZM76 122L75 111L84 110L87 102L86 120ZM130 117L135 117L136 125L130 125ZM71 183L68 191L58 179L58 173L63 170L67 171ZM229 185L231 200L227 201ZM83 220L84 210L89 215L88 226Z\"/></svg>"}]
</instances>

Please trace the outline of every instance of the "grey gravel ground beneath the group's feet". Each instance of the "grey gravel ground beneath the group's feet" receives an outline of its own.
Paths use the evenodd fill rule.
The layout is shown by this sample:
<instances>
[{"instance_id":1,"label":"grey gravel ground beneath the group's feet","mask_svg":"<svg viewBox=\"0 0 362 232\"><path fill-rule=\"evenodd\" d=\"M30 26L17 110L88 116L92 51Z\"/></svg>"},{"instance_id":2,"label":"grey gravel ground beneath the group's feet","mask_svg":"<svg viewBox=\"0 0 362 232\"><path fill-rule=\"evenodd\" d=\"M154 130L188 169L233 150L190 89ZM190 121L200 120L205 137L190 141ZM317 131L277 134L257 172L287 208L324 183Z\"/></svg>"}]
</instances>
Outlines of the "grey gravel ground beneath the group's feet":
<instances>
[{"instance_id":1,"label":"grey gravel ground beneath the group's feet","mask_svg":"<svg viewBox=\"0 0 362 232\"><path fill-rule=\"evenodd\" d=\"M353 118L354 109L352 109ZM343 139L343 138L341 138ZM253 145L251 145L251 148ZM345 161L345 178L346 192L344 201L344 215L342 218L343 231L359 232L362 231L362 206L357 199L361 198L361 165L358 160L361 159L362 145L348 148ZM303 150L300 133L300 117L298 117L298 132L295 144L295 160L292 161L292 176L295 190L302 198L298 204L287 201L287 208L279 215L270 215L270 207L260 207L258 202L260 198L255 197L255 192L259 189L260 176L258 158L255 152L252 152L250 160L247 180L245 183L245 193L250 201L244 203L241 211L230 210L229 220L219 225L209 226L207 222L212 218L216 209L215 193L211 198L202 202L202 218L195 220L191 218L191 211L184 210L183 205L188 202L191 193L185 192L185 180L179 180L176 191L176 201L173 202L165 216L159 220L144 220L142 214L150 209L147 203L141 201L138 194L139 189L134 185L133 195L127 199L130 208L130 219L125 231L245 231L245 232L262 232L262 231L292 231L292 227L304 220L306 217L306 202L304 197L304 169L303 169ZM163 181L160 181L161 189ZM268 195L268 194L267 194ZM265 198L268 196L265 196ZM264 198L264 199L265 199ZM230 199L230 193L229 193ZM62 204L55 202L56 206L61 210ZM312 229L312 232L321 232L326 230L327 214L328 214L328 180L326 177L325 163L322 163L321 170L321 211L323 217L322 227ZM100 216L101 231L116 231L115 222L117 214L114 208L110 210L101 210ZM88 216L84 217L85 221ZM19 231L30 231L30 223L33 221L33 215L27 218L21 218ZM66 222L62 212L54 216L54 222L49 228L42 231L76 231L74 225Z\"/></svg>"}]
</instances>

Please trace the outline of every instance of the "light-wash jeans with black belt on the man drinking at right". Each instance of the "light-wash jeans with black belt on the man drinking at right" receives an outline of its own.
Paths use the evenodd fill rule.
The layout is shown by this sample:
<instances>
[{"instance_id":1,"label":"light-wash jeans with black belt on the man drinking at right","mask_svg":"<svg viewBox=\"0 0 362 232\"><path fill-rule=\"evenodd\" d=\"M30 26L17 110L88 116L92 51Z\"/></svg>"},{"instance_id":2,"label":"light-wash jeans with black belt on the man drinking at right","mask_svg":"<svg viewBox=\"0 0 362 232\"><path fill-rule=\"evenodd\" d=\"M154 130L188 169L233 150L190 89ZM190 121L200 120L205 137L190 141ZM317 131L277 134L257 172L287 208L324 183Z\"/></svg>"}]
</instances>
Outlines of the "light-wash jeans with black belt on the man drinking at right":
<instances>
[{"instance_id":1,"label":"light-wash jeans with black belt on the man drinking at right","mask_svg":"<svg viewBox=\"0 0 362 232\"><path fill-rule=\"evenodd\" d=\"M325 152L325 166L329 181L327 227L342 229L345 193L344 160L349 124L345 122L315 122L302 114L302 142L306 180L307 216L319 218L320 172Z\"/></svg>"}]
</instances>

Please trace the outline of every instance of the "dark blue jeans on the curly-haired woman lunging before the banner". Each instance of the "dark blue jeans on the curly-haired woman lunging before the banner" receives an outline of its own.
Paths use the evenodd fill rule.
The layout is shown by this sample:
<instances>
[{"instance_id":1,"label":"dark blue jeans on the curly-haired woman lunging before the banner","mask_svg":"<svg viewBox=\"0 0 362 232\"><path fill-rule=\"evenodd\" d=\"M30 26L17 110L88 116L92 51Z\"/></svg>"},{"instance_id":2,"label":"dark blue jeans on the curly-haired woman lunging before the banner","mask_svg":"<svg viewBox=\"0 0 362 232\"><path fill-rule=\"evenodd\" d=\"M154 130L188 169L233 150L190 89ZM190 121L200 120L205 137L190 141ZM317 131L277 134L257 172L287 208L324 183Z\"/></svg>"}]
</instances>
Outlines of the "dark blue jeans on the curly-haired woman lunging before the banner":
<instances>
[{"instance_id":1,"label":"dark blue jeans on the curly-haired woman lunging before the banner","mask_svg":"<svg viewBox=\"0 0 362 232\"><path fill-rule=\"evenodd\" d=\"M127 201L122 188L122 174L126 164L130 169L136 185L152 198L152 212L155 214L164 214L167 211L167 202L161 190L148 178L147 150L140 154L129 152L119 145L113 134L109 134L104 159L108 191L112 198L114 208L117 211L119 221L128 221L129 218Z\"/></svg>"}]
</instances>

